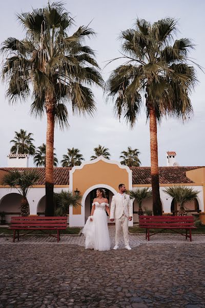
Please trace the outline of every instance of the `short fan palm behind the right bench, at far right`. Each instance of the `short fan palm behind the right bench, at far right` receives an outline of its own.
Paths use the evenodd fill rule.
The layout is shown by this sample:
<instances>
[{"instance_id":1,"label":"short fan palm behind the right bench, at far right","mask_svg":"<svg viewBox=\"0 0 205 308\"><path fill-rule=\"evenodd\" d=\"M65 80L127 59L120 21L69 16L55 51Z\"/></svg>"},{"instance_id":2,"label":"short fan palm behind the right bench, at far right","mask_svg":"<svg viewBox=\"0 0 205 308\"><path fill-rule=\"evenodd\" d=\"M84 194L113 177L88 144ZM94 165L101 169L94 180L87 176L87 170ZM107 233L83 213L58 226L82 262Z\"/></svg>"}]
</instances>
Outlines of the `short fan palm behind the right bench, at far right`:
<instances>
[{"instance_id":1,"label":"short fan palm behind the right bench, at far right","mask_svg":"<svg viewBox=\"0 0 205 308\"><path fill-rule=\"evenodd\" d=\"M166 194L174 198L177 203L179 203L178 216L186 216L185 203L194 200L199 190L194 190L192 187L185 186L171 186L166 189L163 189Z\"/></svg>"}]
</instances>

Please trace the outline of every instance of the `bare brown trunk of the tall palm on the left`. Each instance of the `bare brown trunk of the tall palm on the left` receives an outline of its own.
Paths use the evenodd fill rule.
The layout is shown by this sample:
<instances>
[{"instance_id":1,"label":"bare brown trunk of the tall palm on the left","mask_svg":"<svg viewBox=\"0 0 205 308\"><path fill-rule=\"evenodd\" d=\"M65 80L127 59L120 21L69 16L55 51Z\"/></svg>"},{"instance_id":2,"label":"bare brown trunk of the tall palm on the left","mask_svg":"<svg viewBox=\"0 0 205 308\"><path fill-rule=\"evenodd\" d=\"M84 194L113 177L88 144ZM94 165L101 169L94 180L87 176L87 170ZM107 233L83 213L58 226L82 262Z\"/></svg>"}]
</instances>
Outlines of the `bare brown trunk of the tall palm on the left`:
<instances>
[{"instance_id":1,"label":"bare brown trunk of the tall palm on the left","mask_svg":"<svg viewBox=\"0 0 205 308\"><path fill-rule=\"evenodd\" d=\"M46 132L46 209L45 216L54 216L53 200L53 145L54 145L54 102L46 100L47 132Z\"/></svg>"}]
</instances>

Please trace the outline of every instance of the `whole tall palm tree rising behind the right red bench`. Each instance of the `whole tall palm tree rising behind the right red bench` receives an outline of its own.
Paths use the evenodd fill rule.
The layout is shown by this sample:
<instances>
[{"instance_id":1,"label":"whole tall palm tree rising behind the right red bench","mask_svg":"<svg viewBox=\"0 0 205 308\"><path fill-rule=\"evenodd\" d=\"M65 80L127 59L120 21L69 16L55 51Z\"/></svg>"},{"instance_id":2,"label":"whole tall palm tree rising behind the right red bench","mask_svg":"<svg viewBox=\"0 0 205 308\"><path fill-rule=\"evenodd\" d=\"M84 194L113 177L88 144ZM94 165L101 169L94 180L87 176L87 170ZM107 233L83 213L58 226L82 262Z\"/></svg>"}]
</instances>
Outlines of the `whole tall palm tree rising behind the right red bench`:
<instances>
[{"instance_id":1,"label":"whole tall palm tree rising behind the right red bench","mask_svg":"<svg viewBox=\"0 0 205 308\"><path fill-rule=\"evenodd\" d=\"M161 215L157 123L163 115L186 121L193 113L190 92L196 72L189 63L194 45L188 38L174 41L177 22L165 18L153 24L137 19L136 27L121 32L125 64L110 75L105 92L118 117L133 128L145 102L150 122L151 179L154 215ZM113 60L112 60L113 61ZM191 62L192 63L192 62ZM145 100L143 99L145 97Z\"/></svg>"}]
</instances>

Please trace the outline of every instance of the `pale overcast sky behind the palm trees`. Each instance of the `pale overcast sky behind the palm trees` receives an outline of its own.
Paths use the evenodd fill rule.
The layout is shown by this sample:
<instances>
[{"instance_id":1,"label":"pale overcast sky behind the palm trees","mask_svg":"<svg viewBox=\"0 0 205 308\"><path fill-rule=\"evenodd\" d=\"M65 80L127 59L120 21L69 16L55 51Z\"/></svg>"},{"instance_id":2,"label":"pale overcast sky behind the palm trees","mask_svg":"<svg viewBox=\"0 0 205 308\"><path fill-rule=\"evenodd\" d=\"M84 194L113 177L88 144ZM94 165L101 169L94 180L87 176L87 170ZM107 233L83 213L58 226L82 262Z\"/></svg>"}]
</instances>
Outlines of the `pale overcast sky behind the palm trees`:
<instances>
[{"instance_id":1,"label":"pale overcast sky behind the palm trees","mask_svg":"<svg viewBox=\"0 0 205 308\"><path fill-rule=\"evenodd\" d=\"M71 12L76 26L88 25L91 21L97 36L87 42L97 53L97 61L101 68L105 61L119 56L119 41L117 37L120 30L133 26L136 17L155 22L160 18L169 16L179 20L178 37L192 38L196 49L191 56L201 66L205 67L204 28L205 4L201 0L147 0L139 2L134 0L78 0L65 1L66 9ZM7 0L1 3L0 16L0 42L7 37L23 38L24 33L16 21L16 13L28 12L31 8L41 8L47 1L44 0ZM72 32L73 32L72 31ZM72 33L71 33L72 34ZM103 78L107 80L112 69L117 63L113 63L103 70ZM176 120L164 120L158 128L158 155L159 165L166 165L166 151L177 153L177 162L181 166L201 166L204 163L204 86L205 75L198 72L200 83L196 86L191 97L194 108L194 118L186 124ZM93 89L95 94L97 112L94 118L79 118L69 115L70 129L60 131L55 129L54 146L58 160L67 152L67 148L77 147L86 160L93 155L93 148L101 144L110 149L111 159L119 160L122 150L128 146L138 148L141 152L139 158L142 166L150 166L150 136L149 126L146 124L145 113L142 111L134 129L131 131L125 123L119 123L113 117L112 104L106 105L103 91ZM7 166L7 155L10 151L9 141L14 137L14 131L20 128L34 134L35 145L39 146L46 141L46 118L38 120L29 115L31 100L26 103L8 105L5 99L5 85L0 85L0 134L1 151L0 166ZM30 166L33 166L30 159Z\"/></svg>"}]
</instances>

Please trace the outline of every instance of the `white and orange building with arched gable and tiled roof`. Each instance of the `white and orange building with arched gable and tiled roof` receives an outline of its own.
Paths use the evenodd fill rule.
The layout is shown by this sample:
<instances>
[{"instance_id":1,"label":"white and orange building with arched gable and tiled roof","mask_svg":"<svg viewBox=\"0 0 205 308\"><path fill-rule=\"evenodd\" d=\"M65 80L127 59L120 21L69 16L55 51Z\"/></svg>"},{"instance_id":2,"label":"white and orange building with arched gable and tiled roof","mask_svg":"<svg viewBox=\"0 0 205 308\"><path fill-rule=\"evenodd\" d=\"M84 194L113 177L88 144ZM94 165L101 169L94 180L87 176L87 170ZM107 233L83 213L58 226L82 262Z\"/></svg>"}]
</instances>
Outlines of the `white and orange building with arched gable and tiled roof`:
<instances>
[{"instance_id":1,"label":"white and orange building with arched gable and tiled roof","mask_svg":"<svg viewBox=\"0 0 205 308\"><path fill-rule=\"evenodd\" d=\"M0 168L0 180L9 170L14 167ZM24 168L18 167L19 170ZM30 215L44 215L45 211L45 168L35 169L39 174L37 185L29 190L28 202ZM205 203L205 167L182 167L168 166L159 167L160 199L163 214L173 214L177 211L177 204L164 191L169 186L189 186L197 189L199 194L193 202L187 203L187 209L191 214L197 214L205 223L204 203ZM112 196L117 193L118 185L124 183L126 188L131 190L136 187L151 187L150 167L131 167L121 165L117 161L107 160L98 157L95 160L82 163L73 168L54 168L54 191L62 189L67 191L79 191L82 196L81 206L69 209L69 225L84 226L87 217L90 215L92 200L96 195L96 189L105 188L109 203ZM17 189L0 185L0 211L5 211L6 221L9 222L11 216L20 215L20 195ZM152 209L152 199L142 203L142 208ZM133 222L138 222L138 205L133 200ZM188 213L189 215L189 213ZM109 218L108 218L109 221Z\"/></svg>"}]
</instances>

